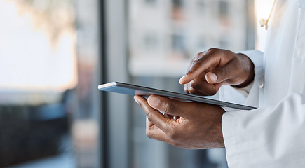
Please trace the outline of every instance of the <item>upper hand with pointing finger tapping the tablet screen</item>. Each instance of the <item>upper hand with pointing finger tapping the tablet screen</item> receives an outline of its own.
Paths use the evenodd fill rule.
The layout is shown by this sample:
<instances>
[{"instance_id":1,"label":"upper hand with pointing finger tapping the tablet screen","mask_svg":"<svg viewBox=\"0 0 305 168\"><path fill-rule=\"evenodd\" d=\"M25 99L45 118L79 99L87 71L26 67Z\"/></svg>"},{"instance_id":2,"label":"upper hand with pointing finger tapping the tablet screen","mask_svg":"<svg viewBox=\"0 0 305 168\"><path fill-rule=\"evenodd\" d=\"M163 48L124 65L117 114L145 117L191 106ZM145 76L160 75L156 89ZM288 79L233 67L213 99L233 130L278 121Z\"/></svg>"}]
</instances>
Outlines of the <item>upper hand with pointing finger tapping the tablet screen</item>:
<instances>
[{"instance_id":1,"label":"upper hand with pointing finger tapping the tablet screen","mask_svg":"<svg viewBox=\"0 0 305 168\"><path fill-rule=\"evenodd\" d=\"M179 83L189 94L214 95L224 84L245 87L254 79L254 65L243 54L211 48L199 53Z\"/></svg>"}]
</instances>

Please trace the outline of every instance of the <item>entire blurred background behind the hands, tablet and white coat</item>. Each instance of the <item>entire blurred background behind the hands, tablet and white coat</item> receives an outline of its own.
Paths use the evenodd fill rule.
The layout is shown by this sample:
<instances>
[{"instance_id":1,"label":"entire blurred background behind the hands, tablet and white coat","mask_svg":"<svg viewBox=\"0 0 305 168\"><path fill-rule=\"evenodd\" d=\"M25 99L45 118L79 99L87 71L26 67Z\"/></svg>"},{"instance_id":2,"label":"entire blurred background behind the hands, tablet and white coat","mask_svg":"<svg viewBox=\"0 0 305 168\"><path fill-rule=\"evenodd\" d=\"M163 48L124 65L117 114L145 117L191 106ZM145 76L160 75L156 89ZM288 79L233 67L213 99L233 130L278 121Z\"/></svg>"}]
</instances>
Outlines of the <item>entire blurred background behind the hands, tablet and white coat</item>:
<instances>
[{"instance_id":1,"label":"entire blurred background behind the hands, tablet and white coat","mask_svg":"<svg viewBox=\"0 0 305 168\"><path fill-rule=\"evenodd\" d=\"M151 140L121 81L184 92L208 48L264 51L271 0L0 0L0 167L227 167ZM217 95L212 97L217 99Z\"/></svg>"}]
</instances>

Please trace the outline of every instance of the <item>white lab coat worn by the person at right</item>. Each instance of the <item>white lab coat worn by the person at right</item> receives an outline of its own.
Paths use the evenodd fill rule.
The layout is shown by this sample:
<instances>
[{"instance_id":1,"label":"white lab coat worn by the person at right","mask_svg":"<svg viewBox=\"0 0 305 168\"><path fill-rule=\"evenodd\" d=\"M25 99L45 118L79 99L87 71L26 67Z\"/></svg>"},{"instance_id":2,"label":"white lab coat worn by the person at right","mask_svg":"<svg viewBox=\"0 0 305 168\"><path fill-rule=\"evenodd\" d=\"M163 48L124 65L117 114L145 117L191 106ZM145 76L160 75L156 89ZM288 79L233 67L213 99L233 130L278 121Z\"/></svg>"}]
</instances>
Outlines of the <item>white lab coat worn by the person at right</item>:
<instances>
[{"instance_id":1,"label":"white lab coat worn by the person at right","mask_svg":"<svg viewBox=\"0 0 305 168\"><path fill-rule=\"evenodd\" d=\"M268 31L264 54L243 52L255 64L245 104L259 108L222 117L229 167L305 167L305 0L276 0Z\"/></svg>"}]
</instances>

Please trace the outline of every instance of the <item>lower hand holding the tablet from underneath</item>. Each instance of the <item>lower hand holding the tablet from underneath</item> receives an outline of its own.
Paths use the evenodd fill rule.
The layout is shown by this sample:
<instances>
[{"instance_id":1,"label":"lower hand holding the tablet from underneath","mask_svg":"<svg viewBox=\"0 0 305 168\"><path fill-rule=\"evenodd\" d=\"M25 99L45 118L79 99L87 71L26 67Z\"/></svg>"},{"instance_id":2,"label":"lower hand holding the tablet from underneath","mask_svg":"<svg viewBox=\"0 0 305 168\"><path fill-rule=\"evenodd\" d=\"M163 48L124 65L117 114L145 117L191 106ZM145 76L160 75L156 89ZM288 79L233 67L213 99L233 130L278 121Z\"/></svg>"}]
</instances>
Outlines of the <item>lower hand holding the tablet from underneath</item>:
<instances>
[{"instance_id":1,"label":"lower hand holding the tablet from underneath","mask_svg":"<svg viewBox=\"0 0 305 168\"><path fill-rule=\"evenodd\" d=\"M147 115L147 137L189 149L223 148L222 114L219 106L179 102L151 95L135 96ZM163 113L165 113L163 115Z\"/></svg>"}]
</instances>

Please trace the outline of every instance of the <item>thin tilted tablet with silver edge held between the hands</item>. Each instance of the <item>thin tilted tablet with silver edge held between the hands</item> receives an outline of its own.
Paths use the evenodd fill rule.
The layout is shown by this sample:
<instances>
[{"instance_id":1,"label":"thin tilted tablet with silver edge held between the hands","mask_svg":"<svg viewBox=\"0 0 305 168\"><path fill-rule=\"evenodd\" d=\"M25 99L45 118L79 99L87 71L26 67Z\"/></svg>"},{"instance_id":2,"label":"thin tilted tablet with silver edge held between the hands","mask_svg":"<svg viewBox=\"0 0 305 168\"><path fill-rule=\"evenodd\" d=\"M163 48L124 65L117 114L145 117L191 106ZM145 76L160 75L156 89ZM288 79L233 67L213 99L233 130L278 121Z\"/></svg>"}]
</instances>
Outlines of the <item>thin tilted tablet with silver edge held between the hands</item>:
<instances>
[{"instance_id":1,"label":"thin tilted tablet with silver edge held between the hands","mask_svg":"<svg viewBox=\"0 0 305 168\"><path fill-rule=\"evenodd\" d=\"M151 94L156 94L159 96L170 97L171 99L177 99L183 102L201 102L206 104L213 104L217 106L224 106L233 109L241 109L241 110L252 110L256 109L252 106L245 106L242 104L233 104L229 102L223 102L215 99L208 99L205 97L195 96L192 94L184 94L178 92L170 92L166 90L158 90L151 87L143 87L140 85L131 85L128 83L120 83L120 82L111 82L105 83L103 85L98 86L99 90L107 91L107 92L116 92L122 94L129 94L129 95L140 95L143 97L148 97Z\"/></svg>"}]
</instances>

